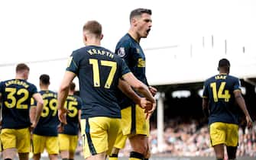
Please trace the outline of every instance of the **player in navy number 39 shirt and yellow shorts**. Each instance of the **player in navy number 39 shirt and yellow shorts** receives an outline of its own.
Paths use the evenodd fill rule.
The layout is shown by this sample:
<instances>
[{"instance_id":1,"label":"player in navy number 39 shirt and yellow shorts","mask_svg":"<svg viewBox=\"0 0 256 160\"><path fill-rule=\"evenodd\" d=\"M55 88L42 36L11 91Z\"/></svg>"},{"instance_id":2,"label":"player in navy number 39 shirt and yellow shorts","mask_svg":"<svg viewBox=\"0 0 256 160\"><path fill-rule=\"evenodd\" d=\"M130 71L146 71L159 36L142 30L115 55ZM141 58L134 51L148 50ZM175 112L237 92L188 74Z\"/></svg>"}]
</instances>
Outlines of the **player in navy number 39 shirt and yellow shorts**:
<instances>
[{"instance_id":1,"label":"player in navy number 39 shirt and yellow shorts","mask_svg":"<svg viewBox=\"0 0 256 160\"><path fill-rule=\"evenodd\" d=\"M33 158L34 160L40 159L41 153L44 152L44 149L47 149L50 160L57 160L59 153L57 126L60 123L57 114L57 93L49 90L49 75L43 74L39 79L40 94L44 99L44 109L33 131ZM34 109L34 107L31 107L31 110ZM32 115L33 113L31 111Z\"/></svg>"}]
</instances>

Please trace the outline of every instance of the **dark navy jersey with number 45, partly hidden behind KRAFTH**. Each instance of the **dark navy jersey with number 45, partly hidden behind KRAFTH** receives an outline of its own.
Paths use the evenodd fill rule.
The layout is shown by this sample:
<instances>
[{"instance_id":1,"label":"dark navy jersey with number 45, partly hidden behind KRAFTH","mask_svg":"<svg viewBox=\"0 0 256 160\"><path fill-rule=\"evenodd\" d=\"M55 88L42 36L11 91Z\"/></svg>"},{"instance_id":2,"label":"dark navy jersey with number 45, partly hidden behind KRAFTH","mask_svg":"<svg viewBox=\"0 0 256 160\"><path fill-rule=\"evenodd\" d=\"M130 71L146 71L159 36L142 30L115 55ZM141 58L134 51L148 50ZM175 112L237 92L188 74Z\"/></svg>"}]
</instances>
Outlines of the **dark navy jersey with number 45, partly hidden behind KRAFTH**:
<instances>
[{"instance_id":1,"label":"dark navy jersey with number 45, partly hidden behind KRAFTH","mask_svg":"<svg viewBox=\"0 0 256 160\"><path fill-rule=\"evenodd\" d=\"M66 114L67 124L64 126L63 134L78 135L79 131L79 110L83 105L82 99L76 95L68 95L65 102L65 107L70 110Z\"/></svg>"}]
</instances>

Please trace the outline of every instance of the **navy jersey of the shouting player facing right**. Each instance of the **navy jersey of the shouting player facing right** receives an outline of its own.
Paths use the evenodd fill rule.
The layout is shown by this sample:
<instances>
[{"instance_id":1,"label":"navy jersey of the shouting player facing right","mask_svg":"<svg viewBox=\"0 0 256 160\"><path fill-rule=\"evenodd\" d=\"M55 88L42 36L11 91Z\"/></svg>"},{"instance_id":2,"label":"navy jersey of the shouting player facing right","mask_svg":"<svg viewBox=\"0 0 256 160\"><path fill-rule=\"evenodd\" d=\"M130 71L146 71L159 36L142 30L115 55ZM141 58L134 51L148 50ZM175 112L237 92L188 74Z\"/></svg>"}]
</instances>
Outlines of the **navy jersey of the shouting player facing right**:
<instances>
[{"instance_id":1,"label":"navy jersey of the shouting player facing right","mask_svg":"<svg viewBox=\"0 0 256 160\"><path fill-rule=\"evenodd\" d=\"M140 44L134 40L129 34L125 34L121 40L118 41L115 47L115 53L125 59L128 68L136 78L138 78L145 85L148 85L145 70L145 55L141 49ZM120 91L121 92L121 91ZM125 94L118 94L118 102L122 108L133 104L133 101L125 96Z\"/></svg>"}]
</instances>

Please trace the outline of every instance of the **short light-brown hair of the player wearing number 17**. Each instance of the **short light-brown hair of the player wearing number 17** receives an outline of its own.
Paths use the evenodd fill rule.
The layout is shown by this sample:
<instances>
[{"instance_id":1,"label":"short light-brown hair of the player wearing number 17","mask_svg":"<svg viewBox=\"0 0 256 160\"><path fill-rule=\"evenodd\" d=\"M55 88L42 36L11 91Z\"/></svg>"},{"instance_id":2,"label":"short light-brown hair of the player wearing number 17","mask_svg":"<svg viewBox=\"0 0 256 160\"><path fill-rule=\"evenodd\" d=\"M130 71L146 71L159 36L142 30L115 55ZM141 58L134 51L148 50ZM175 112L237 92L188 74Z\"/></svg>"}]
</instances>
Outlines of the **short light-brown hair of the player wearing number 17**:
<instances>
[{"instance_id":1,"label":"short light-brown hair of the player wearing number 17","mask_svg":"<svg viewBox=\"0 0 256 160\"><path fill-rule=\"evenodd\" d=\"M83 31L88 30L89 33L95 34L96 37L101 37L102 35L102 24L99 24L98 21L87 21L83 25Z\"/></svg>"}]
</instances>

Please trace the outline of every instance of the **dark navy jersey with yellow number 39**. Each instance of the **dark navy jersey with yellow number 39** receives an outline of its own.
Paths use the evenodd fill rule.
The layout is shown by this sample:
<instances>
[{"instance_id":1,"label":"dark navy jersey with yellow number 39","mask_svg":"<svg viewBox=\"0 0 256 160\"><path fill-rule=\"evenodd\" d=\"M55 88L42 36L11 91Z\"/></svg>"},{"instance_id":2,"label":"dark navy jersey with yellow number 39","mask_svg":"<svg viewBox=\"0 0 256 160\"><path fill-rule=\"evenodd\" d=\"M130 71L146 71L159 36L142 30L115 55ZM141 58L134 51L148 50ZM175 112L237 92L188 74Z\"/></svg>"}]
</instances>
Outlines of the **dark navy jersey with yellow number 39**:
<instances>
[{"instance_id":1,"label":"dark navy jersey with yellow number 39","mask_svg":"<svg viewBox=\"0 0 256 160\"><path fill-rule=\"evenodd\" d=\"M57 113L57 93L39 91L44 100L41 117L34 128L34 134L41 136L57 136L57 126L60 123Z\"/></svg>"}]
</instances>

